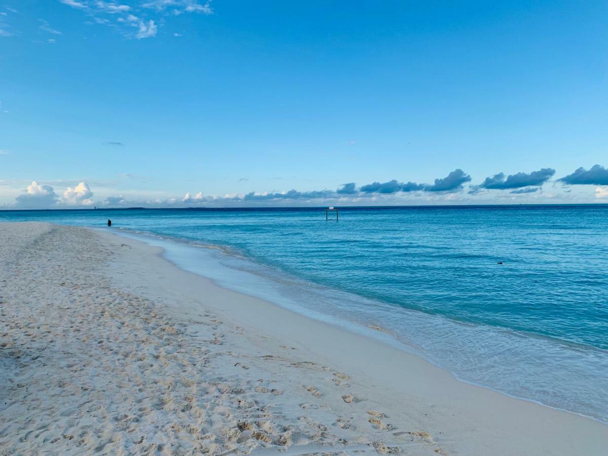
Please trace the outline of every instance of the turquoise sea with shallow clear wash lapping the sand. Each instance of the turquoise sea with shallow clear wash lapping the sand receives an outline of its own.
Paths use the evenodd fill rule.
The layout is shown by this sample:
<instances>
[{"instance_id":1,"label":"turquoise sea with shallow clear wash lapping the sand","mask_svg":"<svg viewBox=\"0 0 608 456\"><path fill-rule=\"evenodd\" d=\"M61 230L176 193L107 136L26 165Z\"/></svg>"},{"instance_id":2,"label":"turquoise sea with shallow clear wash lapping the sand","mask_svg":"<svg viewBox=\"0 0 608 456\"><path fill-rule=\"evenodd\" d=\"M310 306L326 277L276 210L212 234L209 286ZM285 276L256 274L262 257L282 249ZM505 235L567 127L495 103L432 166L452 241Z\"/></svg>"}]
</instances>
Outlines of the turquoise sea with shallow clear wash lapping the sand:
<instances>
[{"instance_id":1,"label":"turquoise sea with shallow clear wash lapping the sand","mask_svg":"<svg viewBox=\"0 0 608 456\"><path fill-rule=\"evenodd\" d=\"M381 326L465 381L608 422L608 206L0 212L108 218L225 286ZM224 249L192 247L207 244Z\"/></svg>"}]
</instances>

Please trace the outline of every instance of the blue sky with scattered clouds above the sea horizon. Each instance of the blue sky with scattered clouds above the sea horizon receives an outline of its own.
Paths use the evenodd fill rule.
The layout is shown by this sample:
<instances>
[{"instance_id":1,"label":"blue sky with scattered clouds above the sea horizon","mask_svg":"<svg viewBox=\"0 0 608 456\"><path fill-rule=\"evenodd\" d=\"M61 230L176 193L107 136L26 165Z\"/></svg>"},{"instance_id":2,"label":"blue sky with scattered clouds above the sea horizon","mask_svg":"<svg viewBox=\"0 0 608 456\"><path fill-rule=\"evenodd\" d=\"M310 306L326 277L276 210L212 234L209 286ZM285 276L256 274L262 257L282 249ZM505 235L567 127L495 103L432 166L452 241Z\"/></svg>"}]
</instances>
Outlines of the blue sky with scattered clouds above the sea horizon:
<instances>
[{"instance_id":1,"label":"blue sky with scattered clouds above the sea horizon","mask_svg":"<svg viewBox=\"0 0 608 456\"><path fill-rule=\"evenodd\" d=\"M0 0L0 209L608 202L608 2Z\"/></svg>"}]
</instances>

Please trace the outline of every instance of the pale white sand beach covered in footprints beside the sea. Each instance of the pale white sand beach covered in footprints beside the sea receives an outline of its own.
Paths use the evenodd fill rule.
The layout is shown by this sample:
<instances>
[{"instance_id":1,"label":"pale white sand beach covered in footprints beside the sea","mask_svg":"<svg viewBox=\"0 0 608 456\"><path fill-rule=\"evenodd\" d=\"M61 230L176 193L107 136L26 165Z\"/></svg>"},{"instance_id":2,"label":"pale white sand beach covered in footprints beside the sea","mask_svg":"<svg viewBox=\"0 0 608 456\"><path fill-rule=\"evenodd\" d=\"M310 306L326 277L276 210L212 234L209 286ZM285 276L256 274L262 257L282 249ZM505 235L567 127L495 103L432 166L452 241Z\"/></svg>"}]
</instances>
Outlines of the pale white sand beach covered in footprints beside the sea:
<instances>
[{"instance_id":1,"label":"pale white sand beach covered in footprints beside the sea","mask_svg":"<svg viewBox=\"0 0 608 456\"><path fill-rule=\"evenodd\" d=\"M162 250L0 224L0 454L603 455L608 426L220 288Z\"/></svg>"}]
</instances>

